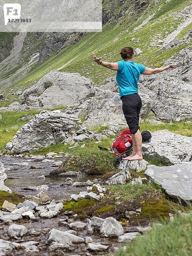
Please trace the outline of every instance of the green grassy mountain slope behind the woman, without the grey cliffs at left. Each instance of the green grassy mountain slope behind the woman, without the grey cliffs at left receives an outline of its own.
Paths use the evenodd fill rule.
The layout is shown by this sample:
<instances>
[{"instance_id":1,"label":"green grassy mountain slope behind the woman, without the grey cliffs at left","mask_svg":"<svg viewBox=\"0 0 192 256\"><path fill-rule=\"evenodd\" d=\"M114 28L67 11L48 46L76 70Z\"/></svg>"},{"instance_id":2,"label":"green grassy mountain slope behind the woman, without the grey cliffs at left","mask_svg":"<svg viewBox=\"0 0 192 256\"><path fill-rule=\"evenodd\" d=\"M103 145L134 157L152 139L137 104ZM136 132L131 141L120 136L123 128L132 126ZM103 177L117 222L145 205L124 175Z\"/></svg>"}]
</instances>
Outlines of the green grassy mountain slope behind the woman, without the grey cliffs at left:
<instances>
[{"instance_id":1,"label":"green grassy mountain slope behind the woman, without the grey cliffs at left","mask_svg":"<svg viewBox=\"0 0 192 256\"><path fill-rule=\"evenodd\" d=\"M183 38L192 30L191 1L163 0L156 6L155 2L157 4L157 1L145 1L144 5L142 1L103 1L105 26L102 32L89 33L76 44L68 45L58 54L55 52L41 64L38 64L38 55L34 56L30 62L31 67L23 78L19 79L20 74L13 75L9 81L12 84L7 89L2 89L1 92L6 96L11 88L13 92L18 89L24 90L53 69L78 72L100 85L105 78L114 76L115 72L93 63L93 52L102 57L104 61L119 61L121 59L119 51L126 45L134 49L142 49L143 53L134 57L136 62L151 67L160 67L166 59L180 49L191 46L191 43L183 42L172 49L157 52L168 41L176 36ZM177 32L174 34L175 31ZM131 41L132 38L135 40ZM2 78L1 76L0 79ZM2 79L1 88L6 86L6 80ZM1 102L0 106L9 105L13 100L19 99L19 96L12 93L6 98L7 101Z\"/></svg>"}]
</instances>

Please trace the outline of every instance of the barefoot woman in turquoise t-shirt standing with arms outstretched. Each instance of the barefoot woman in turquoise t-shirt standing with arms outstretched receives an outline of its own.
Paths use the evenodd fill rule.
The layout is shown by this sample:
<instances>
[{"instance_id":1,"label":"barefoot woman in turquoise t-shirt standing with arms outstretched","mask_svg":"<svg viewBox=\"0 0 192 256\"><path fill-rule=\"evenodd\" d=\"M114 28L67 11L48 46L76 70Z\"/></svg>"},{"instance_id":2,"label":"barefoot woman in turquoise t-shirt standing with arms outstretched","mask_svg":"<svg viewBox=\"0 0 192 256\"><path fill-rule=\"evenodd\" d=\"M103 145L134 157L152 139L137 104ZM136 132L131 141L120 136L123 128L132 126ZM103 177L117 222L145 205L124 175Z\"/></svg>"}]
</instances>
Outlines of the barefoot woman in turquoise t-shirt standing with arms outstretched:
<instances>
[{"instance_id":1,"label":"barefoot woman in turquoise t-shirt standing with arms outstretched","mask_svg":"<svg viewBox=\"0 0 192 256\"><path fill-rule=\"evenodd\" d=\"M140 74L157 74L169 68L174 68L177 63L175 62L167 67L159 67L155 69L145 67L133 61L134 49L132 47L122 48L120 55L122 56L122 61L110 63L101 61L101 57L97 58L95 53L93 53L93 61L96 61L103 67L117 71L116 81L119 86L119 96L122 100L122 110L132 133L133 141L133 153L130 156L125 157L124 160L138 160L143 159L141 153L142 137L139 126L139 114L142 102L138 94L137 86Z\"/></svg>"}]
</instances>

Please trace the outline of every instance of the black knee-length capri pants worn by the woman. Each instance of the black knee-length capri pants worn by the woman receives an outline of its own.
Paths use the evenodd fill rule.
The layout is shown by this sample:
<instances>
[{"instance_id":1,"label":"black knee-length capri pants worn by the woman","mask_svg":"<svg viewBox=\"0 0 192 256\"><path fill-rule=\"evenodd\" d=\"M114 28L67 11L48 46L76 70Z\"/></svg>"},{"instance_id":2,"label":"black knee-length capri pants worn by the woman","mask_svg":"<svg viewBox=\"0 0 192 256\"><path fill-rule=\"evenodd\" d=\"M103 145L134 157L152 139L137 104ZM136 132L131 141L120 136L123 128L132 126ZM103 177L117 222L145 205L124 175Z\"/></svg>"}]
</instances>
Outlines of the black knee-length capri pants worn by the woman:
<instances>
[{"instance_id":1,"label":"black knee-length capri pants worn by the woman","mask_svg":"<svg viewBox=\"0 0 192 256\"><path fill-rule=\"evenodd\" d=\"M138 93L124 95L121 97L122 111L132 134L135 134L139 126L140 110L142 101Z\"/></svg>"}]
</instances>

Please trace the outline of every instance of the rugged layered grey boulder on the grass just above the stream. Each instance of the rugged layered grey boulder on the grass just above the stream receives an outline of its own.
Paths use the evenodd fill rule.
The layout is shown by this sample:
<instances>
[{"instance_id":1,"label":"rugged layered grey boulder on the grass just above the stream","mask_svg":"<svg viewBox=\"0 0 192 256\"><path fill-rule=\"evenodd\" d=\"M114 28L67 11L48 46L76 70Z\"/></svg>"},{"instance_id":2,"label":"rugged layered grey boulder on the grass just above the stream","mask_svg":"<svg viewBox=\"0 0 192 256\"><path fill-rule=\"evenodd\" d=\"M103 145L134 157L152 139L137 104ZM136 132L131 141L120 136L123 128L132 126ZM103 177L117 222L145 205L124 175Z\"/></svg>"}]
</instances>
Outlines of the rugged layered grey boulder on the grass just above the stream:
<instances>
[{"instance_id":1,"label":"rugged layered grey boulder on the grass just above the stream","mask_svg":"<svg viewBox=\"0 0 192 256\"><path fill-rule=\"evenodd\" d=\"M67 138L68 132L81 125L78 118L61 111L41 111L27 124L22 125L13 137L13 150L16 153L30 152L47 147Z\"/></svg>"}]
</instances>

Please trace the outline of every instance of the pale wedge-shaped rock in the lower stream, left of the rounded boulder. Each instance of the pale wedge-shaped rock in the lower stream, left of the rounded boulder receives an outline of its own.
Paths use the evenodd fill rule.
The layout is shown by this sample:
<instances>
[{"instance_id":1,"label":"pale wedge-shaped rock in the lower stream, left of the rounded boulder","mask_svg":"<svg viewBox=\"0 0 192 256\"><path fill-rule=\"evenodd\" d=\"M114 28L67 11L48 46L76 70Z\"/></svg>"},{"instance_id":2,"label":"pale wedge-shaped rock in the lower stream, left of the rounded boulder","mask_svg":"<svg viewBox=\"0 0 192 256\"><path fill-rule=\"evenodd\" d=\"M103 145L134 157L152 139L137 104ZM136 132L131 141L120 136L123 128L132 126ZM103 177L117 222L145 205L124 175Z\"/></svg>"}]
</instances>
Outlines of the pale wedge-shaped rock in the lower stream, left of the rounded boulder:
<instances>
[{"instance_id":1,"label":"pale wedge-shaped rock in the lower stream, left of the rounded boulder","mask_svg":"<svg viewBox=\"0 0 192 256\"><path fill-rule=\"evenodd\" d=\"M73 244L84 243L84 239L79 236L70 234L68 232L56 230L53 228L49 232L49 238L48 238L47 242L48 243L58 242L60 244L69 244L69 245L73 246Z\"/></svg>"}]
</instances>

